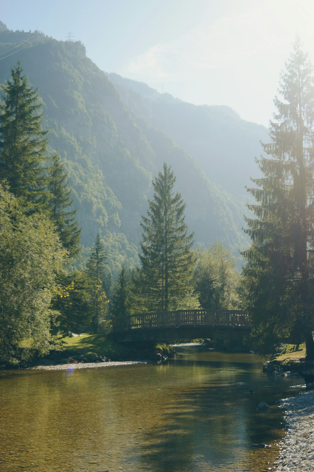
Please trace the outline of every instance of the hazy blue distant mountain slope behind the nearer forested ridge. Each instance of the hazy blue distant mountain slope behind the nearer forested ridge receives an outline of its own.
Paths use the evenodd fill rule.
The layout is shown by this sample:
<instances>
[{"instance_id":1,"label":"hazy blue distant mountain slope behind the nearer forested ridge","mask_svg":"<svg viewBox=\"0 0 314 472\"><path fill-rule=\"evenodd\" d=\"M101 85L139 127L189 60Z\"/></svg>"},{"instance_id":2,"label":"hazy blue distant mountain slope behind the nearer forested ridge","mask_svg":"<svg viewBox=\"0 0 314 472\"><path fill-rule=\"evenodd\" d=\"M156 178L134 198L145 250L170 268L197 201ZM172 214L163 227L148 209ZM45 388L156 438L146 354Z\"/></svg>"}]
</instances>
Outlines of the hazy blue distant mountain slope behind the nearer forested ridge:
<instances>
[{"instance_id":1,"label":"hazy blue distant mountain slope behind the nearer forested ridge","mask_svg":"<svg viewBox=\"0 0 314 472\"><path fill-rule=\"evenodd\" d=\"M262 152L259 142L268 142L265 126L242 120L226 106L196 106L147 84L107 75L129 109L190 152L211 182L244 194L250 177L259 175L254 157Z\"/></svg>"}]
</instances>

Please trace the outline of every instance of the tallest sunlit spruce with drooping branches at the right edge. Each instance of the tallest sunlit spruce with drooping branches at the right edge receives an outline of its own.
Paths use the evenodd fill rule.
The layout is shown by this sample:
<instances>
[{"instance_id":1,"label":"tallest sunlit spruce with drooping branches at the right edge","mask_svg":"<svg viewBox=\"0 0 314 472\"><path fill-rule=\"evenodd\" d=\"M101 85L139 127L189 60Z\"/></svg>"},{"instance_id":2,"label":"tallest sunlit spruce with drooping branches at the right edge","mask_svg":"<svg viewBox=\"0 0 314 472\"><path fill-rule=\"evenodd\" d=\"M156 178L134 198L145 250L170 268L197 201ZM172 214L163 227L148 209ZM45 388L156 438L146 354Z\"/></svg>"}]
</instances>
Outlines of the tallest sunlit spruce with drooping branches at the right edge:
<instances>
[{"instance_id":1,"label":"tallest sunlit spruce with drooping branches at the right edge","mask_svg":"<svg viewBox=\"0 0 314 472\"><path fill-rule=\"evenodd\" d=\"M314 79L313 67L297 39L281 75L270 124L269 158L258 160L264 177L248 191L252 239L243 255L247 309L264 352L282 338L299 335L306 358L314 359Z\"/></svg>"}]
</instances>

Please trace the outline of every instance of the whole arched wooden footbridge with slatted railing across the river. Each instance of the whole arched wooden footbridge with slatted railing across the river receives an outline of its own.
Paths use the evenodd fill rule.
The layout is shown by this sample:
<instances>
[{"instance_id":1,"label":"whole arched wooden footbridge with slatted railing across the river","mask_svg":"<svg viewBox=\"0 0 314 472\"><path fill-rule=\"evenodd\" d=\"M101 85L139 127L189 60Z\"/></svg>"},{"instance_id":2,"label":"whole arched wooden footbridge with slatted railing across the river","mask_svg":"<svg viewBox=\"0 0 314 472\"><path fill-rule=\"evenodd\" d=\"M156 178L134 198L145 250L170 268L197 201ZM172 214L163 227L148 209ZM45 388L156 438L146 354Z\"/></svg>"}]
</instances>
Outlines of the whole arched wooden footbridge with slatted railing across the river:
<instances>
[{"instance_id":1,"label":"whole arched wooden footbridge with slatted railing across the river","mask_svg":"<svg viewBox=\"0 0 314 472\"><path fill-rule=\"evenodd\" d=\"M249 316L240 310L178 310L113 319L113 337L118 342L243 339L250 330Z\"/></svg>"}]
</instances>

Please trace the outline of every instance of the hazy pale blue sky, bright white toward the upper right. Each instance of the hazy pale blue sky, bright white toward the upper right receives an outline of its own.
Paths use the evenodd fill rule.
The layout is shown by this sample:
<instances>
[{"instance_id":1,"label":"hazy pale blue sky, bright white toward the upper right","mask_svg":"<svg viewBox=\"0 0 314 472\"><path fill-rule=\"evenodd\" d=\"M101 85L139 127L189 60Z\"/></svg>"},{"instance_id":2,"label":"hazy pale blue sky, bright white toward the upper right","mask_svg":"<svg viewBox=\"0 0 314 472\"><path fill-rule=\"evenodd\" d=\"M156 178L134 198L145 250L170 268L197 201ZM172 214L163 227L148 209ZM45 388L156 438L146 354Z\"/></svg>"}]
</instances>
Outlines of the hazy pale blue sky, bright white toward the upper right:
<instances>
[{"instance_id":1,"label":"hazy pale blue sky, bright white toward the upper right","mask_svg":"<svg viewBox=\"0 0 314 472\"><path fill-rule=\"evenodd\" d=\"M105 72L265 126L297 35L314 63L313 0L3 0L0 20L71 33Z\"/></svg>"}]
</instances>

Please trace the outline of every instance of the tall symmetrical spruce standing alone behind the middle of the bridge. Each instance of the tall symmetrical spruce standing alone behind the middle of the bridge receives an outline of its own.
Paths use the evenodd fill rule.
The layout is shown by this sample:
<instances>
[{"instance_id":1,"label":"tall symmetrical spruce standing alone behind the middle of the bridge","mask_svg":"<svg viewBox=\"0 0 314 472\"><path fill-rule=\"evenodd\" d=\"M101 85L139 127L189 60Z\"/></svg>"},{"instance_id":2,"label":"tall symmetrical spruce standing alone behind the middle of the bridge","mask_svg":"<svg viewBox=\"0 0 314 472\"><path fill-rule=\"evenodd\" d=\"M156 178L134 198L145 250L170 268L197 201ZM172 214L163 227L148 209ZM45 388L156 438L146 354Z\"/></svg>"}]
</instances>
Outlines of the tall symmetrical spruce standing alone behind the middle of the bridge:
<instances>
[{"instance_id":1,"label":"tall symmetrical spruce standing alone behind the middle of the bridge","mask_svg":"<svg viewBox=\"0 0 314 472\"><path fill-rule=\"evenodd\" d=\"M153 200L147 217L142 216L143 241L139 254L147 309L168 311L171 301L191 286L193 234L185 224L185 203L173 187L176 178L163 164L153 181Z\"/></svg>"}]
</instances>

